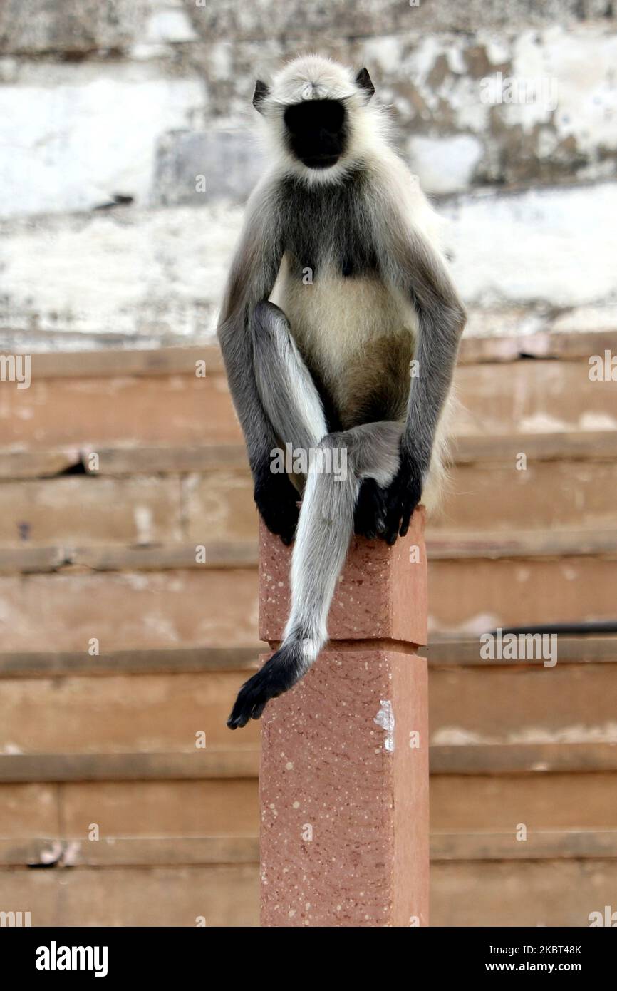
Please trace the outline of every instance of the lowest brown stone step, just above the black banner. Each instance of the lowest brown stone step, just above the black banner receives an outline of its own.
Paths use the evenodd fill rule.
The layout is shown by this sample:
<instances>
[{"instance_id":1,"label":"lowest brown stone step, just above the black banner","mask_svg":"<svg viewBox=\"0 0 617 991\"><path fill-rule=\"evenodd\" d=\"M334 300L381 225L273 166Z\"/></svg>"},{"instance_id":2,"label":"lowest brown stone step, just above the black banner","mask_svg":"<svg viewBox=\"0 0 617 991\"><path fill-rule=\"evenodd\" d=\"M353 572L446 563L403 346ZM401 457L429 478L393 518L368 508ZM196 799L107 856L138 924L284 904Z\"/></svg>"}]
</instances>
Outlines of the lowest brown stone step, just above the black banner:
<instances>
[{"instance_id":1,"label":"lowest brown stone step, just above the black banner","mask_svg":"<svg viewBox=\"0 0 617 991\"><path fill-rule=\"evenodd\" d=\"M0 870L33 926L257 927L257 864ZM617 885L614 859L435 862L431 925L588 927ZM504 898L504 892L507 897ZM572 943L575 937L572 936Z\"/></svg>"}]
</instances>

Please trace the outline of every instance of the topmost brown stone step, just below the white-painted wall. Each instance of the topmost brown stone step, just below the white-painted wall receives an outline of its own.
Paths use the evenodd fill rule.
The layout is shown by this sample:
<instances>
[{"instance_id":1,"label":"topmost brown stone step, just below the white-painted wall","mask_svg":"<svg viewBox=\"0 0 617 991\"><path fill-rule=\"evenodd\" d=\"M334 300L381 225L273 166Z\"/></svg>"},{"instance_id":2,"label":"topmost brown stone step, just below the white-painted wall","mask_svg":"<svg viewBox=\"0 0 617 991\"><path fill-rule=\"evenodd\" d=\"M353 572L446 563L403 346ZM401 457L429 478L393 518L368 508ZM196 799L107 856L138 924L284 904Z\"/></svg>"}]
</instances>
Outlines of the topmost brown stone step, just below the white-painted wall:
<instances>
[{"instance_id":1,"label":"topmost brown stone step, just below the white-painted wall","mask_svg":"<svg viewBox=\"0 0 617 991\"><path fill-rule=\"evenodd\" d=\"M615 354L617 335L604 335ZM588 343L598 342L596 338ZM533 351L533 344L531 350ZM611 350L612 348L612 350ZM503 435L573 430L614 430L617 399L610 376L590 378L589 358L540 358L461 363L455 376L461 435ZM116 353L118 354L118 353ZM148 353L147 353L148 354ZM62 356L73 374L58 374L58 359L35 356L30 385L3 385L0 446L44 452L51 448L106 449L134 444L230 444L241 441L225 372L216 348L174 350L163 359L102 361ZM46 375L46 361L48 374ZM72 365L70 362L72 361ZM41 371L37 373L37 369Z\"/></svg>"}]
</instances>

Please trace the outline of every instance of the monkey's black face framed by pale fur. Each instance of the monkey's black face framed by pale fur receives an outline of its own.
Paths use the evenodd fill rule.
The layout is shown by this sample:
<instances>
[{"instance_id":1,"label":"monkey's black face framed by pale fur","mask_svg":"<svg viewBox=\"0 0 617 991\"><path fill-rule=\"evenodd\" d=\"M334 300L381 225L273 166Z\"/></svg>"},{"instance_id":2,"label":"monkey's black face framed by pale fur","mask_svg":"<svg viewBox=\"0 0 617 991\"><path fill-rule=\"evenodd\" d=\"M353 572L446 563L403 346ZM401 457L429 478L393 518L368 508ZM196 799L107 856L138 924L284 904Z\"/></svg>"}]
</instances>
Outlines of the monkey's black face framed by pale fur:
<instances>
[{"instance_id":1,"label":"monkey's black face framed by pale fur","mask_svg":"<svg viewBox=\"0 0 617 991\"><path fill-rule=\"evenodd\" d=\"M284 114L287 144L308 168L336 165L347 144L345 107L339 100L306 100Z\"/></svg>"}]
</instances>

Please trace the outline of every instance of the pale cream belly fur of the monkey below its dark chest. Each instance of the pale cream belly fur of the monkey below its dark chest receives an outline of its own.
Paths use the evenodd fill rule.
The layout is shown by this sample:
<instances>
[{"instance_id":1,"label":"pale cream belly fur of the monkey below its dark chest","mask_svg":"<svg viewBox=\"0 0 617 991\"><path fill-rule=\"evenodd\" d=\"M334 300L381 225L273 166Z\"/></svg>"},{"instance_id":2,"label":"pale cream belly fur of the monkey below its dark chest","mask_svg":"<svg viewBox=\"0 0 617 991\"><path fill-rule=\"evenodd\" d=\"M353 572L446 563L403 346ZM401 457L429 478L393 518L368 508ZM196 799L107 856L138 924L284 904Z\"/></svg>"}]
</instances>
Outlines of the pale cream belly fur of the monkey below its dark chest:
<instances>
[{"instance_id":1,"label":"pale cream belly fur of the monkey below its dark chest","mask_svg":"<svg viewBox=\"0 0 617 991\"><path fill-rule=\"evenodd\" d=\"M345 407L348 399L358 401L359 391L371 386L373 359L387 359L393 352L393 373L399 372L408 387L416 312L402 293L378 277L345 277L330 266L305 284L288 274L283 259L272 299L286 314L301 353L337 397L337 404ZM382 360L376 367L383 367Z\"/></svg>"}]
</instances>

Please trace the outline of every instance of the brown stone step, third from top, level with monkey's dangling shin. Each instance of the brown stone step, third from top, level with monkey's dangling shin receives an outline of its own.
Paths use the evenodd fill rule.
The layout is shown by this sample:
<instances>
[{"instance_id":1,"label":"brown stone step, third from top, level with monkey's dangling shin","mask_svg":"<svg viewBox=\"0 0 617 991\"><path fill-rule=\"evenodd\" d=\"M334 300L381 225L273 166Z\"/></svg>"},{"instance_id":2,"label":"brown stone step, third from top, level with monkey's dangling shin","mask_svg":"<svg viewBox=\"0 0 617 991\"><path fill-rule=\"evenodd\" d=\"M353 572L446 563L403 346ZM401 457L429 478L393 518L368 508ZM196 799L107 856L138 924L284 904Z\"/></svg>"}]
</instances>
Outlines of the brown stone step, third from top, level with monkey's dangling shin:
<instances>
[{"instance_id":1,"label":"brown stone step, third from top, level with monkey's dangling shin","mask_svg":"<svg viewBox=\"0 0 617 991\"><path fill-rule=\"evenodd\" d=\"M614 621L614 588L614 552L436 558L429 629L462 637L498 626ZM247 647L257 640L254 566L5 573L0 603L12 617L3 630L8 653Z\"/></svg>"}]
</instances>

